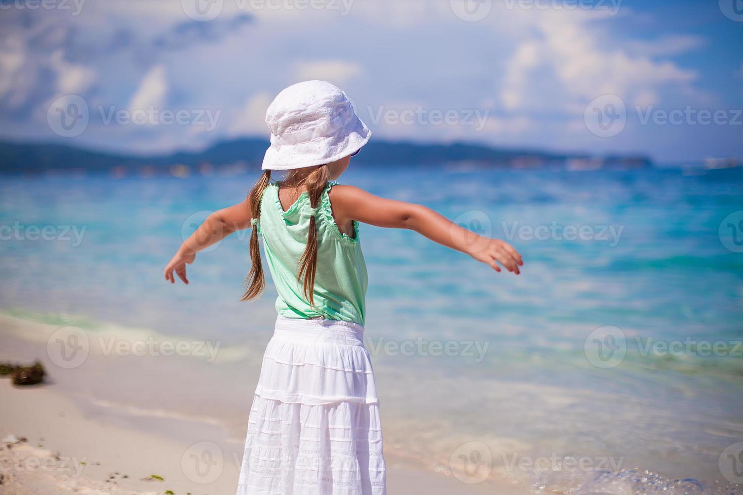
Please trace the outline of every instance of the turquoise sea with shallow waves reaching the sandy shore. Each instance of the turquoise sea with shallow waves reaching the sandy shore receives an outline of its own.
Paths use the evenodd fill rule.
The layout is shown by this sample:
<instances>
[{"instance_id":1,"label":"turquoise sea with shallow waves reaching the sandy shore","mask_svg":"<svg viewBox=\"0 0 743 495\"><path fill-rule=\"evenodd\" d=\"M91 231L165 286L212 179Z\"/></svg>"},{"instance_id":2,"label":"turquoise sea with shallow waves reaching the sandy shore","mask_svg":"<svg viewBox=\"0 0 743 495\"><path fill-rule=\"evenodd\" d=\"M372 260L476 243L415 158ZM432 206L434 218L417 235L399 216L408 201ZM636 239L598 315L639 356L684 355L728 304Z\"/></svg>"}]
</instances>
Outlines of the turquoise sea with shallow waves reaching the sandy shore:
<instances>
[{"instance_id":1,"label":"turquoise sea with shallow waves reaching the sandy shore","mask_svg":"<svg viewBox=\"0 0 743 495\"><path fill-rule=\"evenodd\" d=\"M0 310L259 352L274 292L239 302L248 232L198 255L189 286L162 275L255 178L4 177ZM743 493L721 455L743 442L743 169L386 166L340 182L492 232L525 260L519 277L497 274L362 226L367 347L400 459L454 475L484 444L490 476L539 493ZM562 460L519 471L510 453Z\"/></svg>"}]
</instances>

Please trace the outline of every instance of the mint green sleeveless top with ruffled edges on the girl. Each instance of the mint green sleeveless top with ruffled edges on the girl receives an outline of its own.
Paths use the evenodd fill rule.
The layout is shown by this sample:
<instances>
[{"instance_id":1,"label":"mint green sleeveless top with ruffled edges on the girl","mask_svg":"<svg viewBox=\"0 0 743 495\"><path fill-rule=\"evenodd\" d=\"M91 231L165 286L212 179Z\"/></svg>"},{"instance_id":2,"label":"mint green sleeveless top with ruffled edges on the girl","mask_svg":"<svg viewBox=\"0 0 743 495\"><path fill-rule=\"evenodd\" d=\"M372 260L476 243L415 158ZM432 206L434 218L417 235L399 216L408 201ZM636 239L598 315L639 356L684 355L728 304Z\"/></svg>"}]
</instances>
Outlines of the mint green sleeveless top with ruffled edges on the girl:
<instances>
[{"instance_id":1,"label":"mint green sleeveless top with ruffled edges on the girl","mask_svg":"<svg viewBox=\"0 0 743 495\"><path fill-rule=\"evenodd\" d=\"M338 229L328 195L331 187L336 185L328 183L317 205L314 306L305 298L302 283L296 280L299 258L307 245L312 213L309 195L302 193L284 211L279 200L279 186L276 183L267 186L261 199L258 232L263 237L268 269L279 292L276 299L279 315L352 321L363 325L369 278L359 243L359 225L354 221L353 238Z\"/></svg>"}]
</instances>

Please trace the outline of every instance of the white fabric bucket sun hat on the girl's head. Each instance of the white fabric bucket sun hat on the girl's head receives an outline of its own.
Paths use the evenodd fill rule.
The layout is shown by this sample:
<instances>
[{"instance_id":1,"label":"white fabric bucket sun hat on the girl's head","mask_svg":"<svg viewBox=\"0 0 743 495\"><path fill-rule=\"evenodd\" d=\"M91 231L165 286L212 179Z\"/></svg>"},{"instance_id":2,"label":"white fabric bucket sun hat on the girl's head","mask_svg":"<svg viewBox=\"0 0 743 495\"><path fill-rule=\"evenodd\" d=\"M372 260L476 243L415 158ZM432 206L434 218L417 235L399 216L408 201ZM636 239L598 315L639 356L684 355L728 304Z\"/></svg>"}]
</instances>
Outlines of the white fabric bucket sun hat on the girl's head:
<instances>
[{"instance_id":1,"label":"white fabric bucket sun hat on the girl's head","mask_svg":"<svg viewBox=\"0 0 743 495\"><path fill-rule=\"evenodd\" d=\"M300 82L279 93L266 124L271 145L263 170L331 163L359 151L371 137L348 96L325 81Z\"/></svg>"}]
</instances>

